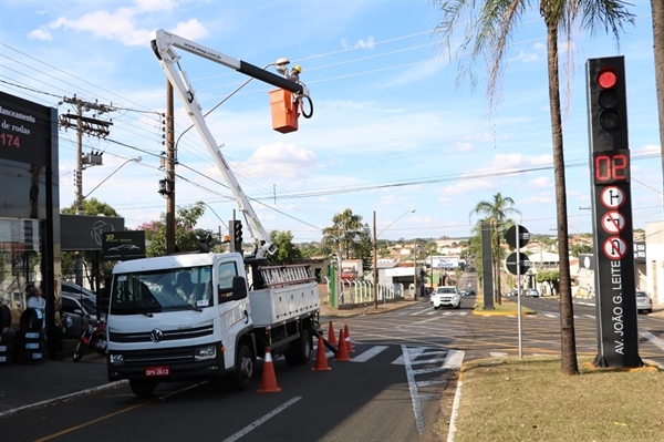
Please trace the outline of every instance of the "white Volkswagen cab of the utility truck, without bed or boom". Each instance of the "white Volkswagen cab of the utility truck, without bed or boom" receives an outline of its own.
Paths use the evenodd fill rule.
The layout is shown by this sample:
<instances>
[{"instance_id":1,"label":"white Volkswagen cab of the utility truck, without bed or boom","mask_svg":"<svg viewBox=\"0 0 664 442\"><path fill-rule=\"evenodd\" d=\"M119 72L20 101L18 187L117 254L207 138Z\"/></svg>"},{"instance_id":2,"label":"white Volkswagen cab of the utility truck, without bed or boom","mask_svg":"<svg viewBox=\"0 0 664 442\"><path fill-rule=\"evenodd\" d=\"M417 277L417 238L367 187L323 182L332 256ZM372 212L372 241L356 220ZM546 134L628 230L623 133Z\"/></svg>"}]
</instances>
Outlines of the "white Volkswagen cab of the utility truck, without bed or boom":
<instances>
[{"instance_id":1,"label":"white Volkswagen cab of the utility truck, without bed or boom","mask_svg":"<svg viewBox=\"0 0 664 442\"><path fill-rule=\"evenodd\" d=\"M108 379L152 393L163 380L234 373L240 358L242 387L256 361L250 313L239 254L121 263L107 317Z\"/></svg>"}]
</instances>

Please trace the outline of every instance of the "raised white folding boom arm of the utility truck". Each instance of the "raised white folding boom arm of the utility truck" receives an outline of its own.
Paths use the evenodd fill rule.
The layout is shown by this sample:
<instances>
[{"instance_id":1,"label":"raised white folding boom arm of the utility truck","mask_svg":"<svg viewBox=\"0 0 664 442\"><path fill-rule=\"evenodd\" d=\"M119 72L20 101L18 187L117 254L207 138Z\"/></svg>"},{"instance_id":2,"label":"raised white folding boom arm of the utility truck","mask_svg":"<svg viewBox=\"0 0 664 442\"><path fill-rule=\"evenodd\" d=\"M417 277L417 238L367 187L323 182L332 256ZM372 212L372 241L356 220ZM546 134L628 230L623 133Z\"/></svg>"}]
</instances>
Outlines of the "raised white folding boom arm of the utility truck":
<instances>
[{"instance_id":1,"label":"raised white folding boom arm of the utility truck","mask_svg":"<svg viewBox=\"0 0 664 442\"><path fill-rule=\"evenodd\" d=\"M212 158L215 158L217 167L219 171L221 171L224 178L228 183L230 191L238 203L240 212L242 212L245 215L245 219L249 225L252 236L255 238L258 237L257 239L259 239L260 243L257 249L257 258L266 257L267 254L273 254L274 250L272 250L272 243L270 241L268 233L260 224L256 212L251 207L251 204L249 204L249 199L242 192L240 184L228 166L226 158L221 154L221 148L217 147L217 142L215 141L215 137L210 133L205 122L205 116L203 115L200 104L196 99L194 88L191 88L191 84L187 79L187 74L179 68L178 61L180 56L175 51L175 48L190 52L195 55L203 56L204 59L214 61L215 63L222 64L227 68L261 80L277 88L286 89L287 91L295 93L298 96L309 96L309 90L300 83L295 83L260 69L253 64L243 62L242 60L234 59L232 56L217 52L214 49L206 48L190 40L166 32L163 29L151 32L151 45L155 52L155 55L157 55L159 64L166 73L168 81L170 84L173 84L173 88L179 95L183 105L187 110L194 126L198 131L198 134L203 138L208 152L212 155Z\"/></svg>"}]
</instances>

